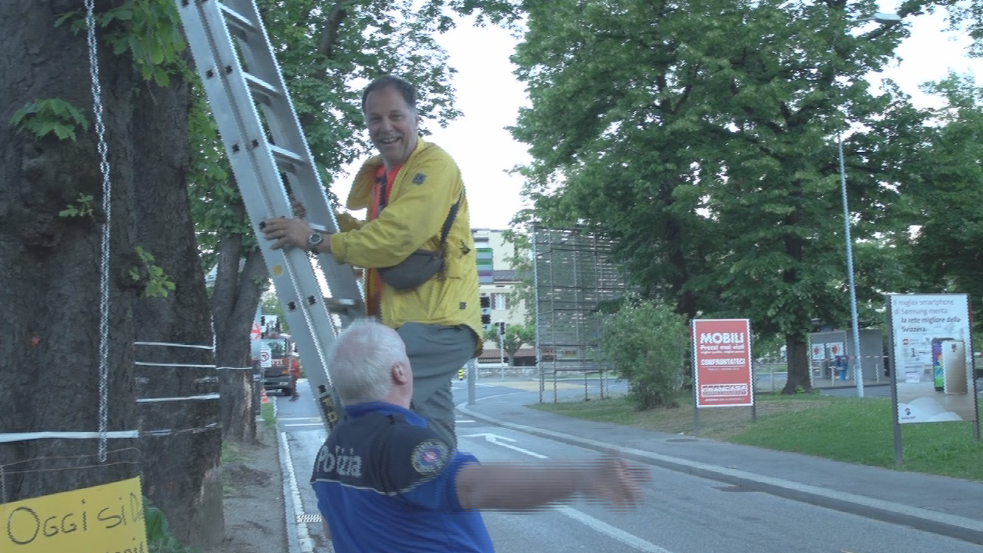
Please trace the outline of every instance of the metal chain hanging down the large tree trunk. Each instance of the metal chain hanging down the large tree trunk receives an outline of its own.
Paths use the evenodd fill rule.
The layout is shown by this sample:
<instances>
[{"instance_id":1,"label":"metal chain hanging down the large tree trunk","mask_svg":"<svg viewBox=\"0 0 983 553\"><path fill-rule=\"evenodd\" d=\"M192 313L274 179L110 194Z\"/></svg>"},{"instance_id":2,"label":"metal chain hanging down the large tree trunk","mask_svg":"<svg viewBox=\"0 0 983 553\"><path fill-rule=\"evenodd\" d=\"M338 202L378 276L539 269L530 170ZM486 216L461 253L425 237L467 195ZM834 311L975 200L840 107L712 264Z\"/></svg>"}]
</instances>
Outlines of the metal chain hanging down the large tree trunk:
<instances>
[{"instance_id":1,"label":"metal chain hanging down the large tree trunk","mask_svg":"<svg viewBox=\"0 0 983 553\"><path fill-rule=\"evenodd\" d=\"M99 462L106 461L106 426L109 420L109 231L112 225L112 189L109 185L109 159L106 145L106 126L102 122L102 89L99 86L99 63L95 48L94 0L86 0L86 29L88 38L88 73L92 78L92 114L95 135L98 137L99 172L102 174L102 225L99 263Z\"/></svg>"}]
</instances>

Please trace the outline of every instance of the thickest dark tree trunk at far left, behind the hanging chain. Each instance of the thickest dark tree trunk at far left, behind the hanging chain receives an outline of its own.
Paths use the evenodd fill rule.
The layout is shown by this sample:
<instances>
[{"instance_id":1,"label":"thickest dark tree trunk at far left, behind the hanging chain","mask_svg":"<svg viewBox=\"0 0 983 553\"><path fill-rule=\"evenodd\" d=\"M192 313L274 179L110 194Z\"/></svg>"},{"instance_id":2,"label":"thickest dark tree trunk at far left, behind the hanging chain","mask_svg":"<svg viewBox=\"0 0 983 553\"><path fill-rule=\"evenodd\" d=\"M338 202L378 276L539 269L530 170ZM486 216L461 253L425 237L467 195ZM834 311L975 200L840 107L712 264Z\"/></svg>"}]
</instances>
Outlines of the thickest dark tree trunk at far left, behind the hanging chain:
<instances>
[{"instance_id":1,"label":"thickest dark tree trunk at far left, behind the hanging chain","mask_svg":"<svg viewBox=\"0 0 983 553\"><path fill-rule=\"evenodd\" d=\"M107 2L97 2L105 9ZM138 285L128 275L134 250L135 196L131 136L135 72L128 59L99 46L101 99L111 167L112 206L101 209L86 33L56 28L58 15L80 9L75 0L0 2L0 305L7 321L0 339L0 432L99 428L100 300L108 303L108 431L136 430L131 319ZM27 102L60 98L85 113L77 139L36 138L7 124ZM91 196L80 203L80 196ZM70 206L83 215L59 215ZM108 224L109 269L100 271L100 240ZM101 290L106 278L107 294ZM0 502L78 489L132 477L134 462L98 461L95 439L0 443ZM137 461L131 439L109 440L107 461ZM43 458L43 459L42 459ZM58 459L55 459L58 458ZM70 469L65 469L70 468Z\"/></svg>"}]
</instances>

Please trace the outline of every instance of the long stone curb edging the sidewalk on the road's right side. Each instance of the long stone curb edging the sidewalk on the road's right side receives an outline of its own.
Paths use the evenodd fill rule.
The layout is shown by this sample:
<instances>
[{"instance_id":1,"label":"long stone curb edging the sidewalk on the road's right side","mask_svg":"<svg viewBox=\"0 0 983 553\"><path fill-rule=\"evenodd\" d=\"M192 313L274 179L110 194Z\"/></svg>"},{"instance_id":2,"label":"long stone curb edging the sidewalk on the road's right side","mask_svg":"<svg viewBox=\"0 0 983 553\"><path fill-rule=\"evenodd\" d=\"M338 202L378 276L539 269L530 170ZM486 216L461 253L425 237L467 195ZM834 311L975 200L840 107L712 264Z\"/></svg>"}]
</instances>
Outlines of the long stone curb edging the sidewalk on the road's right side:
<instances>
[{"instance_id":1,"label":"long stone curb edging the sidewalk on the road's right side","mask_svg":"<svg viewBox=\"0 0 983 553\"><path fill-rule=\"evenodd\" d=\"M520 432L540 436L542 438L549 438L550 440L556 440L565 444L579 446L602 453L617 450L618 453L620 453L625 459L653 464L663 468L668 468L670 470L691 474L693 476L699 476L701 478L718 480L727 484L765 492L771 495L783 497L785 499L790 499L792 501L834 509L841 513L859 515L861 517L882 522L902 524L919 530L946 535L971 543L983 544L983 522L973 519L946 515L944 513L937 513L935 511L929 511L927 509L920 509L917 507L908 507L889 501L864 497L847 492L839 492L818 486L800 484L798 482L783 480L781 478L762 476L760 474L754 474L744 470L725 468L723 466L707 464L704 462L669 457L635 448L615 447L599 440L582 438L580 436L573 436L571 434L546 430L534 426L527 426L524 424L517 424L514 422L505 422L490 415L475 412L467 408L466 403L458 404L457 410L468 416L482 419L497 426L511 428L512 430L518 430Z\"/></svg>"}]
</instances>

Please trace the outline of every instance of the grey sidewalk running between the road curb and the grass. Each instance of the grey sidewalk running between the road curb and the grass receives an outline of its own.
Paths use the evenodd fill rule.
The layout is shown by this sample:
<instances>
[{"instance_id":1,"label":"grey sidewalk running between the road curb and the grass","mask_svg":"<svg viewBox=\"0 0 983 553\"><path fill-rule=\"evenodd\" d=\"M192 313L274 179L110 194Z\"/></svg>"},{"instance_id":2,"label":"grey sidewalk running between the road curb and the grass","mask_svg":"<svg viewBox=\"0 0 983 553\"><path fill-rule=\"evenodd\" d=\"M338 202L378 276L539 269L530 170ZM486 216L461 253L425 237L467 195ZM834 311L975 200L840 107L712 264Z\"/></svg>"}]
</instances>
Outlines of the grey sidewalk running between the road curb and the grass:
<instances>
[{"instance_id":1,"label":"grey sidewalk running between the road curb and the grass","mask_svg":"<svg viewBox=\"0 0 983 553\"><path fill-rule=\"evenodd\" d=\"M506 398L457 408L528 434L983 544L983 483L568 418Z\"/></svg>"}]
</instances>

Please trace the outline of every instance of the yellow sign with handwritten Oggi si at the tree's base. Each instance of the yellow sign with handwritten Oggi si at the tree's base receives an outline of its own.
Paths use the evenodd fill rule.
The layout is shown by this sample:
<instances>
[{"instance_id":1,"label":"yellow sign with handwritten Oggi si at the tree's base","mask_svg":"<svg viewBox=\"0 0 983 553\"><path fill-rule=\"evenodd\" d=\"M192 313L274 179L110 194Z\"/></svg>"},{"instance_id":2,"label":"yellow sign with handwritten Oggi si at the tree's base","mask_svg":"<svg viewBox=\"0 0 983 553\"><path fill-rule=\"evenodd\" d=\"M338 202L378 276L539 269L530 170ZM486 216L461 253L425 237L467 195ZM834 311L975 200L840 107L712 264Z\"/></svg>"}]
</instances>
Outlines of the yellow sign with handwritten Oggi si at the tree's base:
<instances>
[{"instance_id":1,"label":"yellow sign with handwritten Oggi si at the tree's base","mask_svg":"<svg viewBox=\"0 0 983 553\"><path fill-rule=\"evenodd\" d=\"M3 553L147 553L140 477L0 505Z\"/></svg>"}]
</instances>

